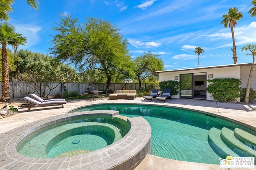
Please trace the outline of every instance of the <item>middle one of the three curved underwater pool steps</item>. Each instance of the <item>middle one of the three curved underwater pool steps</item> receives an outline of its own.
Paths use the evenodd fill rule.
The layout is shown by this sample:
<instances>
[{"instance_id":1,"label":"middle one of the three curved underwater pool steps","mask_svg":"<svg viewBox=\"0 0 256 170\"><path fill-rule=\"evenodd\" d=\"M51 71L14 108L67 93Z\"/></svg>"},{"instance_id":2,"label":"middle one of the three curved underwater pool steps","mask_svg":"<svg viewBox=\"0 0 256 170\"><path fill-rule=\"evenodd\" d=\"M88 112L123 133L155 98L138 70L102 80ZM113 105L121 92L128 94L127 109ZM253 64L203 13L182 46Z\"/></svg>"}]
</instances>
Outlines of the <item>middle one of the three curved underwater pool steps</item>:
<instances>
[{"instance_id":1,"label":"middle one of the three curved underwater pool steps","mask_svg":"<svg viewBox=\"0 0 256 170\"><path fill-rule=\"evenodd\" d=\"M222 141L232 148L241 157L256 157L256 151L244 145L241 141L236 139L234 131L223 127L220 135Z\"/></svg>"}]
</instances>

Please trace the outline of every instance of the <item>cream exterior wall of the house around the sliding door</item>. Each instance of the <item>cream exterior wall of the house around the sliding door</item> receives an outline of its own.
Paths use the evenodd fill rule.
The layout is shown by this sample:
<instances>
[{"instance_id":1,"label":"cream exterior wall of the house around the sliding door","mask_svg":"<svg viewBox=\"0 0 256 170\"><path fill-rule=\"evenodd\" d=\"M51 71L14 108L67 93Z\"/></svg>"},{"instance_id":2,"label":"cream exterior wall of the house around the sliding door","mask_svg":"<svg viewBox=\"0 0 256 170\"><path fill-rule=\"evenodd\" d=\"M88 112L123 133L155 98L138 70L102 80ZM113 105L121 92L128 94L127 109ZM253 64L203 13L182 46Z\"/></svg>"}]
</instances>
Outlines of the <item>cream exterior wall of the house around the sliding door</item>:
<instances>
[{"instance_id":1,"label":"cream exterior wall of the house around the sliding door","mask_svg":"<svg viewBox=\"0 0 256 170\"><path fill-rule=\"evenodd\" d=\"M248 70L249 71L249 70ZM206 72L206 79L208 80L208 74L213 74L213 78L238 78L240 79L240 66L232 67L221 67L221 68L204 68L199 70L180 70L180 71L170 71L170 72L159 72L159 82L175 80L175 76L178 76L180 81L180 74L191 74L191 73L203 73ZM246 72L246 69L244 70ZM245 73L244 73L245 74ZM243 75L244 76L244 75ZM206 83L205 88L208 86ZM247 82L246 82L247 84ZM180 95L174 95L172 98L180 98ZM214 100L211 94L206 93L206 100ZM240 99L238 99L240 101Z\"/></svg>"}]
</instances>

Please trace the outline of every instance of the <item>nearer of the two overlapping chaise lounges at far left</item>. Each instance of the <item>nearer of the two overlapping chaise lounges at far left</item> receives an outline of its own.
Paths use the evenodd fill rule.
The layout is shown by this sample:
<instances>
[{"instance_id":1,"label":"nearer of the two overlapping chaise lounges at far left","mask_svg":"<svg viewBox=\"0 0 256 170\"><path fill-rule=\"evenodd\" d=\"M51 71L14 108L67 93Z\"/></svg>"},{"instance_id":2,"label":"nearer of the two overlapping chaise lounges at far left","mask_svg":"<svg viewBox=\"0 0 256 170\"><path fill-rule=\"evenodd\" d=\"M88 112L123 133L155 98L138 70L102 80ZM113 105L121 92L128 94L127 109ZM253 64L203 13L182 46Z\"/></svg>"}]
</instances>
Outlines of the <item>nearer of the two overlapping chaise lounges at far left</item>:
<instances>
[{"instance_id":1,"label":"nearer of the two overlapping chaise lounges at far left","mask_svg":"<svg viewBox=\"0 0 256 170\"><path fill-rule=\"evenodd\" d=\"M67 103L66 100L51 100L51 101L45 100L44 102L39 102L27 96L22 99L26 100L28 104L22 104L18 107L28 107L27 111L30 111L31 107L58 106L58 105L61 105L62 107L64 107L63 104Z\"/></svg>"}]
</instances>

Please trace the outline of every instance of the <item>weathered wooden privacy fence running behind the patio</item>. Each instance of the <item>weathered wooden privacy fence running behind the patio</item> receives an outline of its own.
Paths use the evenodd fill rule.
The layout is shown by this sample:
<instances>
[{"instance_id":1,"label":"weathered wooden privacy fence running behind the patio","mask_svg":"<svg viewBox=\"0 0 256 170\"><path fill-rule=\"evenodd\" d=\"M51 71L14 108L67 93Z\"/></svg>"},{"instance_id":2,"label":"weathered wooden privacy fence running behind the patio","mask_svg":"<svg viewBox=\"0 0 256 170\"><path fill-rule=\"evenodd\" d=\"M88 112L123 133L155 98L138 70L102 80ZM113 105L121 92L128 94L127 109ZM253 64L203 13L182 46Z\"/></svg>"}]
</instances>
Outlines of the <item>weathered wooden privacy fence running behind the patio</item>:
<instances>
[{"instance_id":1,"label":"weathered wooden privacy fence running behind the patio","mask_svg":"<svg viewBox=\"0 0 256 170\"><path fill-rule=\"evenodd\" d=\"M36 83L39 88L42 88L42 83ZM55 94L63 94L64 92L64 86L66 86L67 92L76 91L79 94L86 93L86 89L90 88L90 90L105 90L106 84L105 83L59 83L59 82L52 82L51 83L53 87L57 86L50 92L50 96L54 96ZM9 82L10 86L10 97L11 98L22 98L23 95L26 93L35 93L37 95L42 96L41 94L38 94L34 88L31 87L30 83L28 82ZM142 83L141 87L146 88L147 86L152 86L152 83ZM2 89L2 82L0 82L0 87ZM138 90L139 84L138 83L113 83L110 84L109 89L111 90L121 90L121 88L124 87L125 90ZM158 87L154 87L158 88ZM46 89L46 94L50 91L50 89ZM40 92L40 89L38 89L38 92ZM23 95L22 95L23 94ZM2 96L2 90L0 91L0 95Z\"/></svg>"}]
</instances>

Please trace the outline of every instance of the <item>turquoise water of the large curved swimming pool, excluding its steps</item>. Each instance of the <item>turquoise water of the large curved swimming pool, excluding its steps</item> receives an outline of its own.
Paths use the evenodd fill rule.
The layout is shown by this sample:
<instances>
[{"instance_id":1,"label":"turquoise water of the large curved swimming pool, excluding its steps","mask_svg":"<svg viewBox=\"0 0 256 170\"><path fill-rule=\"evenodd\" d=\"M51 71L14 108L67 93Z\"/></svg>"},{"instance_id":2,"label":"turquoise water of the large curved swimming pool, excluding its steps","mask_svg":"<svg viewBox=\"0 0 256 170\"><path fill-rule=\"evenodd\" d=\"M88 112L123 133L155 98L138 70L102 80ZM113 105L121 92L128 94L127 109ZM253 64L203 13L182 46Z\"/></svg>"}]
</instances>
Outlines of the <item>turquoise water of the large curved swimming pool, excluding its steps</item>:
<instances>
[{"instance_id":1,"label":"turquoise water of the large curved swimming pool, excluding its steps","mask_svg":"<svg viewBox=\"0 0 256 170\"><path fill-rule=\"evenodd\" d=\"M218 117L165 106L98 104L72 112L104 109L118 110L120 115L127 117L142 116L152 128L152 154L174 160L219 164L222 155L208 139L210 129L221 131L226 127L234 131L235 128L240 128L255 133ZM246 142L244 144L248 145Z\"/></svg>"}]
</instances>

